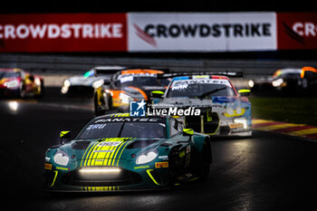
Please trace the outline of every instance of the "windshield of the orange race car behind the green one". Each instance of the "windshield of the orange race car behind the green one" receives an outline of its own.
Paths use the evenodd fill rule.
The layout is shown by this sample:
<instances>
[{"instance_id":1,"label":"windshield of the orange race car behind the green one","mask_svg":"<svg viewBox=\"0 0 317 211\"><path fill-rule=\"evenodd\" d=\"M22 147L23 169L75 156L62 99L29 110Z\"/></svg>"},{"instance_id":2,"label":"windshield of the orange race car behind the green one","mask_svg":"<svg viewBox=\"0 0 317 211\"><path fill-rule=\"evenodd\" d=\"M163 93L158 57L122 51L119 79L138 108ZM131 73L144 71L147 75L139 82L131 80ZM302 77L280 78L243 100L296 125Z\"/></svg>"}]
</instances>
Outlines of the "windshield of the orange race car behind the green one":
<instances>
[{"instance_id":1,"label":"windshield of the orange race car behind the green one","mask_svg":"<svg viewBox=\"0 0 317 211\"><path fill-rule=\"evenodd\" d=\"M168 86L167 79L159 80L156 74L122 74L116 86Z\"/></svg>"}]
</instances>

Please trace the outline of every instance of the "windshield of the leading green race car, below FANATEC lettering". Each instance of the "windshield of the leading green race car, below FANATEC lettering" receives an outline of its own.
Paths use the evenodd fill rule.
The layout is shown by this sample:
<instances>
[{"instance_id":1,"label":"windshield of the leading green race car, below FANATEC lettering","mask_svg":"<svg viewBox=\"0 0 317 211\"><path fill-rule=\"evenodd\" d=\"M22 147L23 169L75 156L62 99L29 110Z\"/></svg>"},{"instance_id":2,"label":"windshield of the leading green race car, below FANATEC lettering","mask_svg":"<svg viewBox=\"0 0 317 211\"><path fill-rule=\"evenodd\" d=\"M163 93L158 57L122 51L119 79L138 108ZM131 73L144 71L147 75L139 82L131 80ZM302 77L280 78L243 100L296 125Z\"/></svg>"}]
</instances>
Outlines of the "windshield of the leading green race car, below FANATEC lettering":
<instances>
[{"instance_id":1,"label":"windshield of the leading green race car, below FANATEC lettering","mask_svg":"<svg viewBox=\"0 0 317 211\"><path fill-rule=\"evenodd\" d=\"M102 138L166 138L166 126L152 122L92 123L82 130L78 139Z\"/></svg>"}]
</instances>

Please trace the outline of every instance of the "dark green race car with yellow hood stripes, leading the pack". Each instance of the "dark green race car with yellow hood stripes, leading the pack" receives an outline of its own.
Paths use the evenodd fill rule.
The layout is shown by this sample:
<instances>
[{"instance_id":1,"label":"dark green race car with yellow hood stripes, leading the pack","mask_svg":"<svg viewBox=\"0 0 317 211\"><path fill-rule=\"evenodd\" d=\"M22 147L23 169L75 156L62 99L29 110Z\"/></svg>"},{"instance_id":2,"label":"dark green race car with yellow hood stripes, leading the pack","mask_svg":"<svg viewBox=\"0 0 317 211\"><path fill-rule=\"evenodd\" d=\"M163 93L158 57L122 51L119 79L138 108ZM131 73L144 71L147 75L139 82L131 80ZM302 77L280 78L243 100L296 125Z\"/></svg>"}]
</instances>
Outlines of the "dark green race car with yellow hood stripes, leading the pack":
<instances>
[{"instance_id":1,"label":"dark green race car with yellow hood stripes, leading the pack","mask_svg":"<svg viewBox=\"0 0 317 211\"><path fill-rule=\"evenodd\" d=\"M170 116L92 119L76 139L45 154L48 191L124 191L164 188L207 178L212 162L207 135L184 129Z\"/></svg>"}]
</instances>

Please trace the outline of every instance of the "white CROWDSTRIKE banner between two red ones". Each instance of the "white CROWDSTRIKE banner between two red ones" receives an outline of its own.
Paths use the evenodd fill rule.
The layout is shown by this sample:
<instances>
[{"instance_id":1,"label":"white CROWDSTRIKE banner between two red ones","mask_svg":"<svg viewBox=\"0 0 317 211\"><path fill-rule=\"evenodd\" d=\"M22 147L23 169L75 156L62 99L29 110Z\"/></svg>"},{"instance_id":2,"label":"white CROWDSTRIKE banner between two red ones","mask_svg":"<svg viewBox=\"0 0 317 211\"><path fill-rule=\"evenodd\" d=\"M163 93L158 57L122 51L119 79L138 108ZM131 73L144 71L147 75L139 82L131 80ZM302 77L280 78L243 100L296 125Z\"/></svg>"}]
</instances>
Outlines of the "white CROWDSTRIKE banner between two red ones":
<instances>
[{"instance_id":1,"label":"white CROWDSTRIKE banner between two red ones","mask_svg":"<svg viewBox=\"0 0 317 211\"><path fill-rule=\"evenodd\" d=\"M129 52L275 51L275 13L129 13Z\"/></svg>"}]
</instances>

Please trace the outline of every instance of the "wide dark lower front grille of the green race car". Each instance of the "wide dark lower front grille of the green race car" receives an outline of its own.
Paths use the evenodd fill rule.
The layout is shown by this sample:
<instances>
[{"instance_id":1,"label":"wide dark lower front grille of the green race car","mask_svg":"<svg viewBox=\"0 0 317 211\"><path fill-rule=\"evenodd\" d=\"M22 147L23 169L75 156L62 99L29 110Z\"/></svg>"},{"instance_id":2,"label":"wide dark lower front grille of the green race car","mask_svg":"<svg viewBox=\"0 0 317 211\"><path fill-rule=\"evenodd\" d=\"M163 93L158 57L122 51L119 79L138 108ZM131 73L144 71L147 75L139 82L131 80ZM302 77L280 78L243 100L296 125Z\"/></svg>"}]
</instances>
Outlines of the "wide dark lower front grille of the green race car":
<instances>
[{"instance_id":1,"label":"wide dark lower front grille of the green race car","mask_svg":"<svg viewBox=\"0 0 317 211\"><path fill-rule=\"evenodd\" d=\"M105 187L105 186L127 186L142 182L139 174L120 169L117 173L99 173L82 175L81 169L67 173L62 178L62 183L70 186L80 187Z\"/></svg>"}]
</instances>

